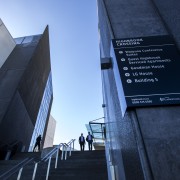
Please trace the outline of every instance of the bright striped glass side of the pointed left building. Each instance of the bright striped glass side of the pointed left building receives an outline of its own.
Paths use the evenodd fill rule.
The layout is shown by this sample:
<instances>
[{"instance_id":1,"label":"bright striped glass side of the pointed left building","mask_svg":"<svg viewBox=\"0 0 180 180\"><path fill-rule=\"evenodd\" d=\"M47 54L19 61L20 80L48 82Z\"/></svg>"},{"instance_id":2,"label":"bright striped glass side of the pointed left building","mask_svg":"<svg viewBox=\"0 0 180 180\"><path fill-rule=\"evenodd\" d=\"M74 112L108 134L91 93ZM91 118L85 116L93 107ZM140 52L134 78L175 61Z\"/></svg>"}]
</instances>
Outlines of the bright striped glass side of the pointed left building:
<instances>
[{"instance_id":1,"label":"bright striped glass side of the pointed left building","mask_svg":"<svg viewBox=\"0 0 180 180\"><path fill-rule=\"evenodd\" d=\"M36 120L36 124L34 127L34 131L33 131L33 135L31 138L31 143L29 146L29 151L33 150L34 144L36 142L36 138L38 137L38 135L41 134L41 136L43 136L44 134L44 130L45 130L45 125L46 125L46 121L48 119L48 111L50 108L50 103L51 103L51 99L52 99L52 94L53 94L53 90L52 90L52 76L51 73L49 74L48 80L47 80L47 84L46 84L46 88L43 94L43 98L41 101L41 105L39 108L39 113L37 116L37 120Z\"/></svg>"}]
</instances>

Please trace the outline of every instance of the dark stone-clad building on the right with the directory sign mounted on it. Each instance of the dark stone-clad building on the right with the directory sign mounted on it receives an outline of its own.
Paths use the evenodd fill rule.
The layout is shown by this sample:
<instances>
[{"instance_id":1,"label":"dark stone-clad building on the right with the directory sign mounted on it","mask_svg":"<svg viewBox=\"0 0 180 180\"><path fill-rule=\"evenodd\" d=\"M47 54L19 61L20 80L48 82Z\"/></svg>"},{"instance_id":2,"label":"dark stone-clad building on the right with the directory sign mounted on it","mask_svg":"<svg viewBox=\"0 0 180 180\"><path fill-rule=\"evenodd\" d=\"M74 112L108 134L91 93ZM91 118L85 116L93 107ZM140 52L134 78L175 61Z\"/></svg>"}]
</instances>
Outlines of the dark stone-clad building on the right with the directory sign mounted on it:
<instances>
[{"instance_id":1,"label":"dark stone-clad building on the right with the directory sign mounted on it","mask_svg":"<svg viewBox=\"0 0 180 180\"><path fill-rule=\"evenodd\" d=\"M97 4L109 180L177 180L180 1Z\"/></svg>"}]
</instances>

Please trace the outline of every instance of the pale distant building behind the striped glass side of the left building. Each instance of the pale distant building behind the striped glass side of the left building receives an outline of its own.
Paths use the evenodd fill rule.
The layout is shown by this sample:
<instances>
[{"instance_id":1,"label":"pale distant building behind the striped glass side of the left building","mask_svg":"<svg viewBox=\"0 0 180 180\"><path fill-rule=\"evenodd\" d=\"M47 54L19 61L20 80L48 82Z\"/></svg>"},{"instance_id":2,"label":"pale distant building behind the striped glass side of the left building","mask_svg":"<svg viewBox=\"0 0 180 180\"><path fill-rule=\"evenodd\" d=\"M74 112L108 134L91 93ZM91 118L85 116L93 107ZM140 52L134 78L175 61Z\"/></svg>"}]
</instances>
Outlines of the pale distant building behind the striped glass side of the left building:
<instances>
[{"instance_id":1,"label":"pale distant building behind the striped glass side of the left building","mask_svg":"<svg viewBox=\"0 0 180 180\"><path fill-rule=\"evenodd\" d=\"M43 148L53 147L55 129L56 129L56 120L50 115Z\"/></svg>"}]
</instances>

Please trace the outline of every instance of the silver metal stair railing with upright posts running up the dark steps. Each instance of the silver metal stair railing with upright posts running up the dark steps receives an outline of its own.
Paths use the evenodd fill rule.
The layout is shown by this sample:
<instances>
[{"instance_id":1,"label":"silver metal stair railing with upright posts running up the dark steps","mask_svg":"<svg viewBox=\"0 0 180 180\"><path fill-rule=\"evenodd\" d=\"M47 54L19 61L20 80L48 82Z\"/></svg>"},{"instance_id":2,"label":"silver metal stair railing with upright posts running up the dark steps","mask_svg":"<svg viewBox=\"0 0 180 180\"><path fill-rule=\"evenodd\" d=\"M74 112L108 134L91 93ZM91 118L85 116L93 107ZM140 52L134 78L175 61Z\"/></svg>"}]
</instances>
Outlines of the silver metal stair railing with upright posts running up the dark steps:
<instances>
[{"instance_id":1,"label":"silver metal stair railing with upright posts running up the dark steps","mask_svg":"<svg viewBox=\"0 0 180 180\"><path fill-rule=\"evenodd\" d=\"M69 150L69 156L71 156L72 145L73 145L73 150L74 150L74 141L75 141L75 139L72 139L67 144L66 143L59 144L58 146L53 148L40 161L35 162L34 170L33 170L33 175L32 175L32 180L35 179L38 164L41 163L41 162L47 162L47 161L48 161L48 167L47 167L47 172L46 172L46 180L48 180L52 156L54 156L55 153L56 153L55 168L57 168L57 162L58 162L58 157L59 157L58 156L59 155L59 150L62 147L61 160L63 160L63 158L64 158L64 160L66 160L67 159L67 151L68 150ZM22 160L19 164L17 164L16 166L11 168L10 170L6 171L5 173L1 174L0 175L0 179L2 178L3 180L6 180L9 177L11 177L13 174L15 174L16 172L19 171L18 176L17 176L17 180L20 180L24 166L26 166L27 164L31 163L33 160L34 160L34 158L26 158L26 159Z\"/></svg>"}]
</instances>

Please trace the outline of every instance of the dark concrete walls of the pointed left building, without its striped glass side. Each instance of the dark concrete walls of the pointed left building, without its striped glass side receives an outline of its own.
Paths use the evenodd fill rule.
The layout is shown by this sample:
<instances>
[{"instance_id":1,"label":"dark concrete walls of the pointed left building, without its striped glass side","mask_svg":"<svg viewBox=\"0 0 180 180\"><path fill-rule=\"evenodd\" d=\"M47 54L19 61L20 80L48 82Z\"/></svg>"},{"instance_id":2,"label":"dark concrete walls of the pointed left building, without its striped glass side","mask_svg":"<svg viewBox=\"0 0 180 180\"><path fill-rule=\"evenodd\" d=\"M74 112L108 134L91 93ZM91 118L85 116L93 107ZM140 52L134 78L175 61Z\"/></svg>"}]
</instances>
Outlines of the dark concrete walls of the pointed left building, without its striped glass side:
<instances>
[{"instance_id":1,"label":"dark concrete walls of the pointed left building, without its striped glass side","mask_svg":"<svg viewBox=\"0 0 180 180\"><path fill-rule=\"evenodd\" d=\"M20 39L0 68L0 145L19 141L28 150L51 70L48 27L43 35ZM52 94L43 109L47 119L51 105Z\"/></svg>"}]
</instances>

